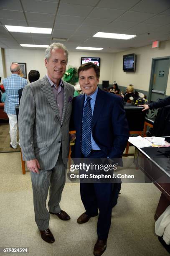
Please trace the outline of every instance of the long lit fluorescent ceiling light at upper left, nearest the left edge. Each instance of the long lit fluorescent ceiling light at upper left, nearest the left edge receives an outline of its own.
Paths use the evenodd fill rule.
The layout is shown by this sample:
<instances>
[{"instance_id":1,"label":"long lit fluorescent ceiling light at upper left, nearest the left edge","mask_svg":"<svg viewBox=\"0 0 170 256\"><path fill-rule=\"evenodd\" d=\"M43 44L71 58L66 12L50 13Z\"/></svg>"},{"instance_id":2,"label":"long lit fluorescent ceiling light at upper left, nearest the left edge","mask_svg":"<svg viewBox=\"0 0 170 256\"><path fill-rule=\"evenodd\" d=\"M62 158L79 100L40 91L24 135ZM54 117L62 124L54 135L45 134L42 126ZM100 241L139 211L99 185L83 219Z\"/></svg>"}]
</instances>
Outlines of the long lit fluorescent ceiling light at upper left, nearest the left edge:
<instances>
[{"instance_id":1,"label":"long lit fluorescent ceiling light at upper left, nearest the left edge","mask_svg":"<svg viewBox=\"0 0 170 256\"><path fill-rule=\"evenodd\" d=\"M33 28L22 26L7 26L5 28L10 32L22 32L22 33L38 33L38 34L51 34L52 28Z\"/></svg>"}]
</instances>

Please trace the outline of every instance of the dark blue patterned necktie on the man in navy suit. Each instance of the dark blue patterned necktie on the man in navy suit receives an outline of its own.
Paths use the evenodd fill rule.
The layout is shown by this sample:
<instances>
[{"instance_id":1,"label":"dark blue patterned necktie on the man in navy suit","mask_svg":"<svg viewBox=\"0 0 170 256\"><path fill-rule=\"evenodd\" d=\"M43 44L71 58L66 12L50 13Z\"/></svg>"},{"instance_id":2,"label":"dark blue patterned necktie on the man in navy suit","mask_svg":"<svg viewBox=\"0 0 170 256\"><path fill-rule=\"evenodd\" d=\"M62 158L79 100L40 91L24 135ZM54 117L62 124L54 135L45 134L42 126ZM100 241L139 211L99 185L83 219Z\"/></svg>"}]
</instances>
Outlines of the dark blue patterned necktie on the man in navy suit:
<instances>
[{"instance_id":1,"label":"dark blue patterned necktie on the man in navy suit","mask_svg":"<svg viewBox=\"0 0 170 256\"><path fill-rule=\"evenodd\" d=\"M83 112L83 124L82 124L82 141L81 141L81 152L84 156L89 156L91 153L91 105L90 97L87 97L86 104Z\"/></svg>"}]
</instances>

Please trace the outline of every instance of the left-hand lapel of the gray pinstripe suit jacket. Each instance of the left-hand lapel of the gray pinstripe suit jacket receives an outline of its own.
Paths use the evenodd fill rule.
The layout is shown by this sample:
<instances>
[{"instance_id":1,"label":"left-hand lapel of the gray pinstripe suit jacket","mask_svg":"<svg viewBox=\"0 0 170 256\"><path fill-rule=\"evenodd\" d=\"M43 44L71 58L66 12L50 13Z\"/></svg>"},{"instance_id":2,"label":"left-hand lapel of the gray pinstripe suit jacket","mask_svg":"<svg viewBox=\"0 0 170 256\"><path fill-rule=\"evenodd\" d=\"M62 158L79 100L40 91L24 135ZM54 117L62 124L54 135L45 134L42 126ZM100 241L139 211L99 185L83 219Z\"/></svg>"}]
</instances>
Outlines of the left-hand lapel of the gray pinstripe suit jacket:
<instances>
[{"instance_id":1,"label":"left-hand lapel of the gray pinstripe suit jacket","mask_svg":"<svg viewBox=\"0 0 170 256\"><path fill-rule=\"evenodd\" d=\"M56 104L56 100L53 95L53 90L51 88L51 84L48 81L48 78L46 76L43 77L42 84L43 84L43 86L41 87L41 90L46 95L48 102L50 103L51 107L53 108L54 112L56 113L58 120L60 121L58 106Z\"/></svg>"}]
</instances>

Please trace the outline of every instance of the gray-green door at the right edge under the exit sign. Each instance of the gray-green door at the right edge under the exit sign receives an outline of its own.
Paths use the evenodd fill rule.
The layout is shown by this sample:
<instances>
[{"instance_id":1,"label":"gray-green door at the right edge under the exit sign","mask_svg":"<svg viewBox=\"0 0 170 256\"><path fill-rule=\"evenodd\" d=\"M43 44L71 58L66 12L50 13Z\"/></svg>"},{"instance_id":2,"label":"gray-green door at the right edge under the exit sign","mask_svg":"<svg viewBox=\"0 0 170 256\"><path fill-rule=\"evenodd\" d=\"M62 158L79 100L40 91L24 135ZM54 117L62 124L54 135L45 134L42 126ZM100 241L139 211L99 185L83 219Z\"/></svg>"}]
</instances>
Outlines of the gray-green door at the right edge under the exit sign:
<instances>
[{"instance_id":1,"label":"gray-green door at the right edge under the exit sign","mask_svg":"<svg viewBox=\"0 0 170 256\"><path fill-rule=\"evenodd\" d=\"M166 96L170 57L153 58L148 100L157 101Z\"/></svg>"}]
</instances>

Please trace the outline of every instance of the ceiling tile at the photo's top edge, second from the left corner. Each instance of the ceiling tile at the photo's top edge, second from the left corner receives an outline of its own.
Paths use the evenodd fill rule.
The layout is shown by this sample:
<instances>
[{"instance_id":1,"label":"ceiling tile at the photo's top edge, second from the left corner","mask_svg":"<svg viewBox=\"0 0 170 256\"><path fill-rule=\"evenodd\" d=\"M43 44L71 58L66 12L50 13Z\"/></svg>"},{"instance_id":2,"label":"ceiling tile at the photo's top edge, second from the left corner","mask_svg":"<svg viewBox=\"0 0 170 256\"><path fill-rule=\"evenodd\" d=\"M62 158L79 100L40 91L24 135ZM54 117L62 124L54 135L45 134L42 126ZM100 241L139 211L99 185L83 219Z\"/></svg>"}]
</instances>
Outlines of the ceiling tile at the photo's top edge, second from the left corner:
<instances>
[{"instance_id":1,"label":"ceiling tile at the photo's top edge, second from the left corner","mask_svg":"<svg viewBox=\"0 0 170 256\"><path fill-rule=\"evenodd\" d=\"M33 13L48 13L55 14L58 3L36 1L36 0L22 0L23 8L25 12Z\"/></svg>"}]
</instances>

